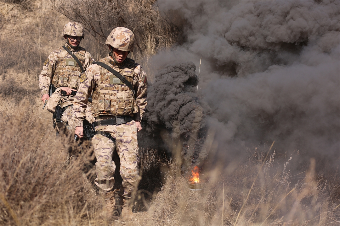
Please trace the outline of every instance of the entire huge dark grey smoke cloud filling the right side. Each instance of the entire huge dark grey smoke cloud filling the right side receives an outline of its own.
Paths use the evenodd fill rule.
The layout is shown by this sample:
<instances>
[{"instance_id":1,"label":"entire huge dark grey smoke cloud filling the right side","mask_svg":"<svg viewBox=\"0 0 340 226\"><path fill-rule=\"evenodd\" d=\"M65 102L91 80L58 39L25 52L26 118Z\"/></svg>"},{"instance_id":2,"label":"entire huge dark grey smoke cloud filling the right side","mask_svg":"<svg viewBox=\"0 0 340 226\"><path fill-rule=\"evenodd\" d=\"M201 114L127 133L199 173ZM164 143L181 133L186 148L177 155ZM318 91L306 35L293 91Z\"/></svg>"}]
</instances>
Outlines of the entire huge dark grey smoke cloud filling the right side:
<instances>
[{"instance_id":1,"label":"entire huge dark grey smoke cloud filling the right side","mask_svg":"<svg viewBox=\"0 0 340 226\"><path fill-rule=\"evenodd\" d=\"M241 157L244 146L267 141L282 153L339 164L339 1L158 6L184 21L187 41L151 60L154 71L172 66L151 78L148 109L157 113L148 116L150 129L164 124L177 136L207 126L210 143L201 140L202 156L226 164ZM195 99L194 82L187 84L195 66L186 62L197 66L201 57ZM197 112L203 113L195 124L191 116Z\"/></svg>"}]
</instances>

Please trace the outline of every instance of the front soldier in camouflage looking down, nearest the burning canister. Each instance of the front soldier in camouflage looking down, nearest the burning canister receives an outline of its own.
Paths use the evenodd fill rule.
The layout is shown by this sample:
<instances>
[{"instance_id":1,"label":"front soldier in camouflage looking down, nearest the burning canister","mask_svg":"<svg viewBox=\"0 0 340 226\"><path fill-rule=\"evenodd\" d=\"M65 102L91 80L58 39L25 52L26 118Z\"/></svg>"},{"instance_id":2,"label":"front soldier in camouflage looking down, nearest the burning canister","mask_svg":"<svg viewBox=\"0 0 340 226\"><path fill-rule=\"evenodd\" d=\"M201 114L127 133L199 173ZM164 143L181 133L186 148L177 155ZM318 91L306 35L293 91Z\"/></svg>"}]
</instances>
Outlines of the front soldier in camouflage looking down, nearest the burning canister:
<instances>
[{"instance_id":1,"label":"front soldier in camouflage looking down, nearest the burning canister","mask_svg":"<svg viewBox=\"0 0 340 226\"><path fill-rule=\"evenodd\" d=\"M121 217L125 221L134 219L129 199L132 191L137 188L139 151L137 132L142 129L140 121L147 105L146 75L139 64L127 58L133 51L134 39L134 34L128 28L113 29L105 42L110 53L100 60L120 73L123 80L129 81L133 90L116 75L95 62L82 75L73 104L75 126L77 126L75 134L82 137L82 121L85 117L87 98L93 90L92 110L96 120L94 123L96 135L92 138L92 143L97 158L95 183L105 198L107 216L111 217L116 209L115 192L118 190L112 190L115 183L113 175L116 170L112 155L113 151L117 151L124 188ZM98 132L109 133L116 139L116 146L112 140Z\"/></svg>"}]
</instances>

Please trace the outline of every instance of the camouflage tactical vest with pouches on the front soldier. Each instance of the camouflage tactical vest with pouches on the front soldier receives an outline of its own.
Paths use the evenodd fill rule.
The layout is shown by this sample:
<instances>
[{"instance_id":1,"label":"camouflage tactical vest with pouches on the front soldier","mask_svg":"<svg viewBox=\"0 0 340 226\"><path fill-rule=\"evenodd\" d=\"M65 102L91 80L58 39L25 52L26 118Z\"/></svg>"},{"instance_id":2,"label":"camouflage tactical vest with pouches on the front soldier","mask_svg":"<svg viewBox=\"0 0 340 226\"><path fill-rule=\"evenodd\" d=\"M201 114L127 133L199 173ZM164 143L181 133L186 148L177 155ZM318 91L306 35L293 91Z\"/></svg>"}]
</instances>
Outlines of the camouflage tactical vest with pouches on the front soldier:
<instances>
[{"instance_id":1,"label":"camouflage tactical vest with pouches on the front soldier","mask_svg":"<svg viewBox=\"0 0 340 226\"><path fill-rule=\"evenodd\" d=\"M104 58L101 62L109 65L114 64L112 60ZM111 63L110 63L111 61ZM126 62L125 62L126 61ZM134 79L134 69L138 64L130 58L126 58L123 69L119 73L131 84ZM138 112L137 101L132 90L125 85L114 74L99 66L100 81L92 95L92 110L100 115L124 116Z\"/></svg>"}]
</instances>

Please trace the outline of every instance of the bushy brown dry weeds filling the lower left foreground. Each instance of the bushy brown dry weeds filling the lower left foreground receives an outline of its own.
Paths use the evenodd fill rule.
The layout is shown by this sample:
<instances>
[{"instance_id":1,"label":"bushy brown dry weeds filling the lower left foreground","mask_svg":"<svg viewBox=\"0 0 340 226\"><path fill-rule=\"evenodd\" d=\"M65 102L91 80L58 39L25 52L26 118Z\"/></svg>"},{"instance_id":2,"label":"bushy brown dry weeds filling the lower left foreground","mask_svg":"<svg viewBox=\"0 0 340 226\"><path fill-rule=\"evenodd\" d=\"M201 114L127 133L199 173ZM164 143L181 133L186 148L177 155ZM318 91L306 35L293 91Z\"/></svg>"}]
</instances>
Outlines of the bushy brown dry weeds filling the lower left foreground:
<instances>
[{"instance_id":1,"label":"bushy brown dry weeds filling the lower left foreground","mask_svg":"<svg viewBox=\"0 0 340 226\"><path fill-rule=\"evenodd\" d=\"M82 170L91 149L63 137L48 142L50 127L33 113L36 105L20 106L25 110L13 115L1 112L0 225L96 225L101 204L87 179L93 172ZM66 161L63 148L77 157Z\"/></svg>"}]
</instances>

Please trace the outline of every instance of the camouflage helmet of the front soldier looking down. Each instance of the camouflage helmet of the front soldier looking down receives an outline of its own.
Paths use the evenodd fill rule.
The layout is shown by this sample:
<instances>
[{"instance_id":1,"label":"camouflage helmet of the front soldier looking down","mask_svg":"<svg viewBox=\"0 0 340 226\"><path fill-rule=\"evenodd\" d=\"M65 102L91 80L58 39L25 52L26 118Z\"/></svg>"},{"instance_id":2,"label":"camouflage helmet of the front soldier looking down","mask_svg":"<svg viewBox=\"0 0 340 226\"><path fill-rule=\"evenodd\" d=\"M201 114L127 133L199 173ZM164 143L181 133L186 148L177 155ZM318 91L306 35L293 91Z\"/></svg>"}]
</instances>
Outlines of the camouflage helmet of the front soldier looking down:
<instances>
[{"instance_id":1,"label":"camouflage helmet of the front soldier looking down","mask_svg":"<svg viewBox=\"0 0 340 226\"><path fill-rule=\"evenodd\" d=\"M121 51L133 52L133 47L135 46L135 35L128 28L116 27L107 37L105 44L111 45Z\"/></svg>"}]
</instances>

